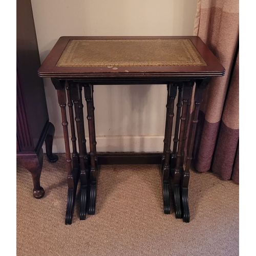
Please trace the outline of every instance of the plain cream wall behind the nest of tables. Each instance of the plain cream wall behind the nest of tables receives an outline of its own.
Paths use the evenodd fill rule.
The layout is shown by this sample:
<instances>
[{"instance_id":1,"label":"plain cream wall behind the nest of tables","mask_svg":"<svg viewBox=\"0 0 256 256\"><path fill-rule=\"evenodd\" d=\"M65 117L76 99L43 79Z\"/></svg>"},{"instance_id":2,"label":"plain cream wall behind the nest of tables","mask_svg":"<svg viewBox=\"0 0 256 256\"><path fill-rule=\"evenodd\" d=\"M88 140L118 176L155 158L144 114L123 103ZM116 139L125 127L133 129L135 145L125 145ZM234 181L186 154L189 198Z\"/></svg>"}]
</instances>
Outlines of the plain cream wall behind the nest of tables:
<instances>
[{"instance_id":1,"label":"plain cream wall behind the nest of tables","mask_svg":"<svg viewBox=\"0 0 256 256\"><path fill-rule=\"evenodd\" d=\"M31 0L38 48L44 61L57 39L80 36L193 35L197 0ZM60 108L44 79L53 152L65 152ZM99 152L161 152L165 127L165 85L95 86ZM86 106L86 103L84 103ZM84 120L86 108L84 108ZM88 135L88 128L86 133Z\"/></svg>"}]
</instances>

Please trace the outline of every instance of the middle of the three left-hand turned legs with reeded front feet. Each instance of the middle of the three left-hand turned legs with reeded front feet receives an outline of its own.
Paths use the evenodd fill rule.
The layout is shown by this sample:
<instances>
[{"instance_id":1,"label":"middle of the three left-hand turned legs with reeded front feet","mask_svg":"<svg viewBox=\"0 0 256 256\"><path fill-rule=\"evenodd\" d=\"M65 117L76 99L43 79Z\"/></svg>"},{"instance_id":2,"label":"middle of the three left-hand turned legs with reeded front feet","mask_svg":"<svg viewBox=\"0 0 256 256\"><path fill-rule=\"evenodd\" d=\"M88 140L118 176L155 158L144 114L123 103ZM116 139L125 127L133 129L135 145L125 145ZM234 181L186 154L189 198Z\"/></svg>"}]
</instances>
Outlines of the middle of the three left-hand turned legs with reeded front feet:
<instances>
[{"instance_id":1,"label":"middle of the three left-hand turned legs with reeded front feet","mask_svg":"<svg viewBox=\"0 0 256 256\"><path fill-rule=\"evenodd\" d=\"M76 121L76 129L77 129L77 137L78 137L78 148L79 148L79 159L80 159L80 220L86 219L86 211L88 205L88 189L89 189L89 167L88 163L84 161L87 159L85 154L86 145L84 145L84 130L82 129L83 125L83 116L82 109L80 106L80 98L79 98L79 84L71 82L71 98L75 107L75 121Z\"/></svg>"}]
</instances>

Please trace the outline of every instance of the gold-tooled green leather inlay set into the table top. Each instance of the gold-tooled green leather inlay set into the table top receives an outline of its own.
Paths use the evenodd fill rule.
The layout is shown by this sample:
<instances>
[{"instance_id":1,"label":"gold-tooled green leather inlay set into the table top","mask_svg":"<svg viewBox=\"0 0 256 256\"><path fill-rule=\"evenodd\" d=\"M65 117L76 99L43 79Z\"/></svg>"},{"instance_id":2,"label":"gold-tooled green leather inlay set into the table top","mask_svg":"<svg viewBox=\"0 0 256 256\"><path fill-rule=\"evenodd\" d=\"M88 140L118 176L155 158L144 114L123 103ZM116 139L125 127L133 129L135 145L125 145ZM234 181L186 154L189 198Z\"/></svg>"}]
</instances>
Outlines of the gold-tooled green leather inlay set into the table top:
<instances>
[{"instance_id":1,"label":"gold-tooled green leather inlay set into the table top","mask_svg":"<svg viewBox=\"0 0 256 256\"><path fill-rule=\"evenodd\" d=\"M70 39L56 67L207 66L189 39Z\"/></svg>"}]
</instances>

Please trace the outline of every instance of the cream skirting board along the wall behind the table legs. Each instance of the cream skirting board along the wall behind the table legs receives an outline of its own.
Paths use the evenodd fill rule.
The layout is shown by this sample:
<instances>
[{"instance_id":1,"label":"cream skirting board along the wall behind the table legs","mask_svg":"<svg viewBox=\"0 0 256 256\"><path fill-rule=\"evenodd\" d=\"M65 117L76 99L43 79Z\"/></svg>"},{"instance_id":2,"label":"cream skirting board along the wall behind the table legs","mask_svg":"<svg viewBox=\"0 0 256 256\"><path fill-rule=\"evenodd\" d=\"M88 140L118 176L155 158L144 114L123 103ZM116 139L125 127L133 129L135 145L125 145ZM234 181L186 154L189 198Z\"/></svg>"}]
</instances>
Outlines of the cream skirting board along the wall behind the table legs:
<instances>
[{"instance_id":1,"label":"cream skirting board along the wall behind the table legs","mask_svg":"<svg viewBox=\"0 0 256 256\"><path fill-rule=\"evenodd\" d=\"M173 146L172 136L172 146ZM97 152L163 152L164 136L97 136ZM78 141L77 151L78 150ZM172 147L171 146L171 147ZM45 143L42 146L44 153ZM70 140L70 151L72 144ZM87 138L87 152L90 152L89 138ZM54 137L53 153L65 153L63 137Z\"/></svg>"}]
</instances>

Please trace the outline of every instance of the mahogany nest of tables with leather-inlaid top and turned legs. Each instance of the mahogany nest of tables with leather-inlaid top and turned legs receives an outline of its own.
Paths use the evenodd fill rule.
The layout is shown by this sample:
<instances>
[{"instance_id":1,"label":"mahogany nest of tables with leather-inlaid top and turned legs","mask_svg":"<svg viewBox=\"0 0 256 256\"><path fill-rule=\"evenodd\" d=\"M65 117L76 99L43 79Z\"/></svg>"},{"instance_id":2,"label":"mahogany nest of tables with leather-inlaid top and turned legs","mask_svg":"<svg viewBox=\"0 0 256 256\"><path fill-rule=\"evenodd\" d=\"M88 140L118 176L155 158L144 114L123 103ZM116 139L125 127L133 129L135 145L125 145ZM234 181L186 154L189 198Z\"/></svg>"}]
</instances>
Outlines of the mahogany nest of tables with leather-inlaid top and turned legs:
<instances>
[{"instance_id":1,"label":"mahogany nest of tables with leather-inlaid top and turned legs","mask_svg":"<svg viewBox=\"0 0 256 256\"><path fill-rule=\"evenodd\" d=\"M189 166L203 91L211 76L223 76L225 69L197 36L165 37L60 37L38 70L50 77L61 108L68 168L66 224L72 223L77 183L80 178L80 219L95 213L99 175L96 151L93 88L100 84L167 84L166 125L161 164L164 213L170 214L170 195L176 218L189 222ZM188 125L192 89L195 111ZM87 102L90 154L86 151L82 90ZM173 151L171 135L174 102L177 118ZM72 157L68 134L68 103L72 133ZM148 117L150 118L150 117ZM186 138L187 127L190 127ZM78 148L76 144L78 139ZM186 167L183 169L185 141ZM79 153L78 153L79 152Z\"/></svg>"}]
</instances>

